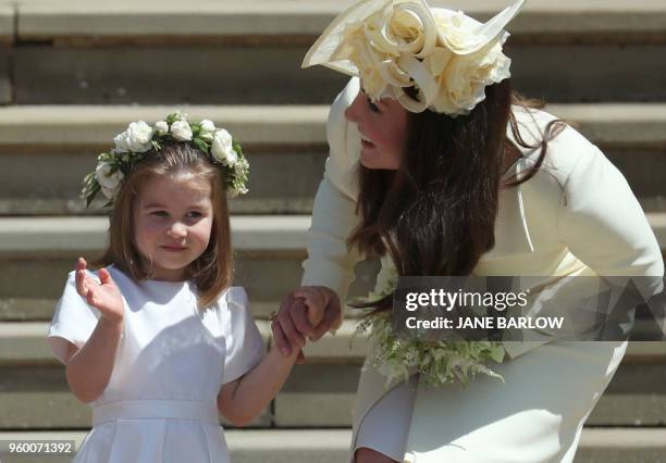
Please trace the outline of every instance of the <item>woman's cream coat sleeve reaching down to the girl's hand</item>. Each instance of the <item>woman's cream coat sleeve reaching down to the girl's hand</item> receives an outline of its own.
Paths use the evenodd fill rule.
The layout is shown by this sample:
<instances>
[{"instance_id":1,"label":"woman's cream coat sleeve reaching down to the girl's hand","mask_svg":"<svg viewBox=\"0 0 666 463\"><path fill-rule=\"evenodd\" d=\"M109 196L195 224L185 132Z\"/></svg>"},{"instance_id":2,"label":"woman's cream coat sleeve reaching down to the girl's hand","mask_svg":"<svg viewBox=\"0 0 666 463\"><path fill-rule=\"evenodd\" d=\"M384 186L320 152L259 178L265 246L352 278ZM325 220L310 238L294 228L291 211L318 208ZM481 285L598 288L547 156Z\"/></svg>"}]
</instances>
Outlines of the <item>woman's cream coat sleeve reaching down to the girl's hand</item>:
<instances>
[{"instance_id":1,"label":"woman's cream coat sleeve reaching down to the girl's hand","mask_svg":"<svg viewBox=\"0 0 666 463\"><path fill-rule=\"evenodd\" d=\"M346 243L359 221L355 210L360 135L355 124L347 123L344 111L358 89L358 79L349 80L329 113L330 154L314 197L312 223L307 235L308 258L303 263L303 285L328 286L343 301L354 278L354 265L361 259L358 252L349 251Z\"/></svg>"}]
</instances>

